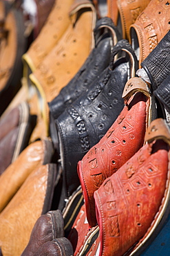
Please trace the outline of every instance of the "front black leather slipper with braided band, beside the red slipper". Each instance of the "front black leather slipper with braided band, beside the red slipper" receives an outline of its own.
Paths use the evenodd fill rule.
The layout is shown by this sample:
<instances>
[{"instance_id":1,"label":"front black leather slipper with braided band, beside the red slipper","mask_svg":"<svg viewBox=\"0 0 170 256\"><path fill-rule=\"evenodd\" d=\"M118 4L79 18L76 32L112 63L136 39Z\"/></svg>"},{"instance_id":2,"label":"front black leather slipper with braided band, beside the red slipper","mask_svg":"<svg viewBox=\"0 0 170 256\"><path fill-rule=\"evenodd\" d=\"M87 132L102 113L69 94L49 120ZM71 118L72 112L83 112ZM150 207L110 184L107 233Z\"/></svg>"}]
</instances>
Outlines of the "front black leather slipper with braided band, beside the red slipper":
<instances>
[{"instance_id":1,"label":"front black leather slipper with braided band, beside the red slipper","mask_svg":"<svg viewBox=\"0 0 170 256\"><path fill-rule=\"evenodd\" d=\"M114 46L114 55L111 59L113 62L114 56L124 47L127 47L133 56L131 47L123 40ZM114 66L111 61L110 66L94 80L89 90L56 119L67 196L70 196L79 185L76 172L78 161L105 135L124 107L122 93L128 80L129 56L127 59L120 57Z\"/></svg>"}]
</instances>

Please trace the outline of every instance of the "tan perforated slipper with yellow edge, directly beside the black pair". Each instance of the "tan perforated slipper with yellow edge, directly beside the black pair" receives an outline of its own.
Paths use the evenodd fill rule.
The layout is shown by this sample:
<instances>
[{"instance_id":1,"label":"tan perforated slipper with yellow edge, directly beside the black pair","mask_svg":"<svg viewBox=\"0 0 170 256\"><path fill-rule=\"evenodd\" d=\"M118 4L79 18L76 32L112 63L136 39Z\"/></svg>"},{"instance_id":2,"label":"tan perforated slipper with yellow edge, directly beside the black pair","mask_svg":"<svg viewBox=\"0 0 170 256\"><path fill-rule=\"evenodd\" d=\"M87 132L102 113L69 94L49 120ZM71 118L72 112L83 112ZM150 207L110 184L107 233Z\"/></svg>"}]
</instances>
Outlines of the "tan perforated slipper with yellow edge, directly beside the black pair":
<instances>
[{"instance_id":1,"label":"tan perforated slipper with yellow edge, directly beside the black pair","mask_svg":"<svg viewBox=\"0 0 170 256\"><path fill-rule=\"evenodd\" d=\"M70 19L72 23L59 44L30 75L43 102L41 111L46 122L49 121L47 102L52 101L76 75L94 47L92 31L96 25L96 10L93 4L77 1L75 8L70 11Z\"/></svg>"}]
</instances>

